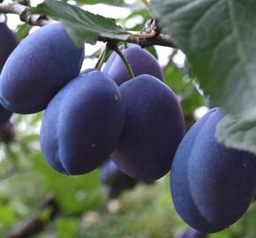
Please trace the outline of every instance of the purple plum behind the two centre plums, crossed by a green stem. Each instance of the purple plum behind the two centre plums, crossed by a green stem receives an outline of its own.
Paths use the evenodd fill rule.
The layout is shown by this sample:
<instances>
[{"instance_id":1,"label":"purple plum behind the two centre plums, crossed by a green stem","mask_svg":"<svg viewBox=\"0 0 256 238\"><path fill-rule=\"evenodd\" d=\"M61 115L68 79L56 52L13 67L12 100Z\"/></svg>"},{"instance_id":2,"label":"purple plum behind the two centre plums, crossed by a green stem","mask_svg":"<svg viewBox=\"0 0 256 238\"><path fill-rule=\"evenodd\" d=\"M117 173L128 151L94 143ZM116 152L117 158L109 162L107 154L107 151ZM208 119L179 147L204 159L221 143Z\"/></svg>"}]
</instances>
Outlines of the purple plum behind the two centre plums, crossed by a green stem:
<instances>
[{"instance_id":1,"label":"purple plum behind the two centre plums, crossed by a green stem","mask_svg":"<svg viewBox=\"0 0 256 238\"><path fill-rule=\"evenodd\" d=\"M123 54L130 63L135 76L150 74L163 81L161 66L146 49L140 48L138 45L132 45L125 48ZM103 72L109 74L118 86L130 79L122 59L116 52L109 57Z\"/></svg>"}]
</instances>

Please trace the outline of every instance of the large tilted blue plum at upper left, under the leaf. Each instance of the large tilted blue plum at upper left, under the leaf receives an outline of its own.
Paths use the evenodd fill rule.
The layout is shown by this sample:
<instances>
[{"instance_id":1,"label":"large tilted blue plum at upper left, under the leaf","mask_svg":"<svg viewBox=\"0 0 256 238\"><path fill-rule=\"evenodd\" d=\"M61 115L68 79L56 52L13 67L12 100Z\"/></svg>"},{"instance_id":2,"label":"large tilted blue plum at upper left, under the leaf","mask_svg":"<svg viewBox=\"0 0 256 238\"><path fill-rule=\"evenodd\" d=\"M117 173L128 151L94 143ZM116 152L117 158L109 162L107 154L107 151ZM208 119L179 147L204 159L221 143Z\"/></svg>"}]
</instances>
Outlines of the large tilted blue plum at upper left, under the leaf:
<instances>
[{"instance_id":1,"label":"large tilted blue plum at upper left, under the leaf","mask_svg":"<svg viewBox=\"0 0 256 238\"><path fill-rule=\"evenodd\" d=\"M79 75L83 56L84 48L74 46L64 26L41 27L21 41L4 64L1 103L15 113L41 111L61 87Z\"/></svg>"}]
</instances>

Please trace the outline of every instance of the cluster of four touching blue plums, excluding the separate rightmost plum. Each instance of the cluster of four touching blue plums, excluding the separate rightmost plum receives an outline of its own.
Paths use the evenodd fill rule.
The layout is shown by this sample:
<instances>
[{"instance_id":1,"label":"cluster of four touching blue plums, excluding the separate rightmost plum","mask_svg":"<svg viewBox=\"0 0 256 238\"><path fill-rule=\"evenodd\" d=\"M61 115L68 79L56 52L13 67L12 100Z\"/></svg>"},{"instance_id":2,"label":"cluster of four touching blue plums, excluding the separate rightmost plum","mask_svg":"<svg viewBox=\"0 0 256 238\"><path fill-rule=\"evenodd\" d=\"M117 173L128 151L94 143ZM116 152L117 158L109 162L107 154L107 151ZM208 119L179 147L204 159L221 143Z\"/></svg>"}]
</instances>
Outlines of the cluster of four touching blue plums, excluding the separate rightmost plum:
<instances>
[{"instance_id":1,"label":"cluster of four touching blue plums, excluding the separate rightmost plum","mask_svg":"<svg viewBox=\"0 0 256 238\"><path fill-rule=\"evenodd\" d=\"M184 136L177 96L154 56L123 49L135 78L116 53L103 71L80 72L77 48L59 23L29 34L0 75L0 101L19 114L44 110L41 151L51 167L83 175L109 159L126 175L154 181L169 172ZM15 70L13 70L15 65Z\"/></svg>"}]
</instances>

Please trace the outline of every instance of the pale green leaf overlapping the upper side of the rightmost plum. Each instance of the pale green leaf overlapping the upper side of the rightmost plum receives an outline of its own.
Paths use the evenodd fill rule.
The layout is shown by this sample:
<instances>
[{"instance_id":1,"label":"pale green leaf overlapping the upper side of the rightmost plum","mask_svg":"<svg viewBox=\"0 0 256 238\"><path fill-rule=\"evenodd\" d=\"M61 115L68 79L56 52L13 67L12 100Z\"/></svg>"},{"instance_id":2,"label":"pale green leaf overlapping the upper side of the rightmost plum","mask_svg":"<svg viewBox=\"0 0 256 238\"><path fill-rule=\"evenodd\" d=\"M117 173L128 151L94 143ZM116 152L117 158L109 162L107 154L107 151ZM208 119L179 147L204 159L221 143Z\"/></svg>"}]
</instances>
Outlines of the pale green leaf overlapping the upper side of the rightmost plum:
<instances>
[{"instance_id":1,"label":"pale green leaf overlapping the upper side of the rightmost plum","mask_svg":"<svg viewBox=\"0 0 256 238\"><path fill-rule=\"evenodd\" d=\"M255 118L226 115L218 124L216 138L226 146L256 154Z\"/></svg>"}]
</instances>

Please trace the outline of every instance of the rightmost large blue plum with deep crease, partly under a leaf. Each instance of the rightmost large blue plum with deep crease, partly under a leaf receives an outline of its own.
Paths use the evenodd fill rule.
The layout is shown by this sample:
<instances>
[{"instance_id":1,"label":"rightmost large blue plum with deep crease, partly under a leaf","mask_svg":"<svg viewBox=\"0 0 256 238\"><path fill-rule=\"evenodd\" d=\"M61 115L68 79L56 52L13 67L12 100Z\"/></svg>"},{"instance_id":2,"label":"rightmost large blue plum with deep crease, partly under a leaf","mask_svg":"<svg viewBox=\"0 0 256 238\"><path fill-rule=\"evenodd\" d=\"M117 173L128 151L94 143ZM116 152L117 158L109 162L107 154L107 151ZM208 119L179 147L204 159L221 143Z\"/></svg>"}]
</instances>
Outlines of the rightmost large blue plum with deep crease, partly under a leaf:
<instances>
[{"instance_id":1,"label":"rightmost large blue plum with deep crease, partly under a leaf","mask_svg":"<svg viewBox=\"0 0 256 238\"><path fill-rule=\"evenodd\" d=\"M191 227L215 233L240 219L252 201L256 158L215 140L224 113L211 109L180 143L172 164L170 188L178 214Z\"/></svg>"}]
</instances>

